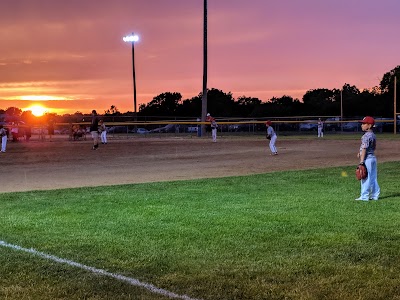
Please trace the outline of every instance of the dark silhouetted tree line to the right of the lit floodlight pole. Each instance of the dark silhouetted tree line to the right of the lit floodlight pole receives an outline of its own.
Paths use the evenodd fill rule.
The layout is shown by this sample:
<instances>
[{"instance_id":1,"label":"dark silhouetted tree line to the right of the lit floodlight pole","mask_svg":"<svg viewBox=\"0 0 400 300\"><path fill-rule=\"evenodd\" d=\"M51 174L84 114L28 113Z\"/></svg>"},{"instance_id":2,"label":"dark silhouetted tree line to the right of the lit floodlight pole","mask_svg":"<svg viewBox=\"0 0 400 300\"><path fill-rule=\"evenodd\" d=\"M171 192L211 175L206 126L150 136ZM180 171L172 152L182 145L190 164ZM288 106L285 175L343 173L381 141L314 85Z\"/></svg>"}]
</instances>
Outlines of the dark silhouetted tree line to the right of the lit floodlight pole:
<instances>
[{"instance_id":1,"label":"dark silhouetted tree line to the right of the lit floodlight pole","mask_svg":"<svg viewBox=\"0 0 400 300\"><path fill-rule=\"evenodd\" d=\"M340 89L318 88L308 90L302 101L284 95L263 102L258 98L240 96L234 99L230 92L212 88L207 91L208 112L218 117L260 118L290 116L373 115L393 117L394 78L400 87L400 66L385 73L379 86L360 91L356 86L344 84ZM202 94L182 100L177 92L162 93L139 107L139 116L199 116Z\"/></svg>"}]
</instances>

